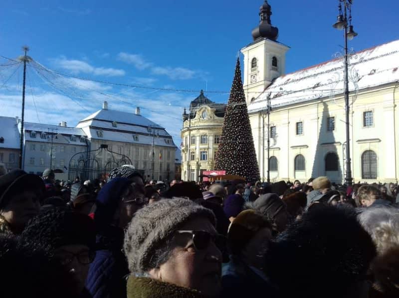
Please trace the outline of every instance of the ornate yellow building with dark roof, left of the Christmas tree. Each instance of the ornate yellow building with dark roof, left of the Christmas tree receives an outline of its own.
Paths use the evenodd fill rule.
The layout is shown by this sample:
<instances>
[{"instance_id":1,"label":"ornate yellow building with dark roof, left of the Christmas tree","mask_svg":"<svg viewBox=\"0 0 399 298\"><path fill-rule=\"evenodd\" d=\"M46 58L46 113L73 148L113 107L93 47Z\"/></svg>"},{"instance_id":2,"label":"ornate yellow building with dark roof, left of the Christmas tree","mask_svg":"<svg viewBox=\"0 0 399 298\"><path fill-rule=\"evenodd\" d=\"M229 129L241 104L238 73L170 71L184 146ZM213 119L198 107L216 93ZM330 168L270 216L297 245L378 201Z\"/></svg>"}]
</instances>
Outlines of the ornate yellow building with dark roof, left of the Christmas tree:
<instances>
[{"instance_id":1,"label":"ornate yellow building with dark roof, left of the Christmas tree","mask_svg":"<svg viewBox=\"0 0 399 298\"><path fill-rule=\"evenodd\" d=\"M183 180L199 181L202 171L213 169L225 108L225 104L210 101L201 90L191 102L189 113L185 109L181 132Z\"/></svg>"}]
</instances>

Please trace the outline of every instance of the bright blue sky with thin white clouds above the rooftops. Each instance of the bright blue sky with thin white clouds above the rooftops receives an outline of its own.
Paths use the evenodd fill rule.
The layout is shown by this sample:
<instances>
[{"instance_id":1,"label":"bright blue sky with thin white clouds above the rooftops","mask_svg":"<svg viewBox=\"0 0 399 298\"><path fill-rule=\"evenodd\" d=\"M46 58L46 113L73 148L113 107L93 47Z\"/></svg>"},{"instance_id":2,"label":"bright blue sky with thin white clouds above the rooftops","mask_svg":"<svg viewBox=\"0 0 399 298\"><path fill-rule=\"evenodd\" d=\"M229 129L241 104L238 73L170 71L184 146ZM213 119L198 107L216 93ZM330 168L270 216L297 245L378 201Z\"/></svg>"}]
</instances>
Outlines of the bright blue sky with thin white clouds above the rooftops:
<instances>
[{"instance_id":1,"label":"bright blue sky with thin white clouds above the rooftops","mask_svg":"<svg viewBox=\"0 0 399 298\"><path fill-rule=\"evenodd\" d=\"M41 65L100 81L198 92L126 88L61 78L43 79L28 67L26 119L74 126L101 108L134 111L164 126L179 144L181 114L199 93L229 91L235 57L252 41L263 0L2 0L0 55L15 58L21 45ZM289 45L286 71L332 58L341 49L332 28L338 0L269 0L278 40ZM399 1L354 1L353 24L359 36L350 43L362 50L399 39ZM6 63L0 59L0 64ZM36 65L37 66L37 65ZM20 115L22 72L0 67L0 115ZM40 75L41 73L41 75ZM52 84L50 84L50 83ZM4 86L2 86L4 85ZM216 102L228 94L208 93ZM35 107L36 106L36 107Z\"/></svg>"}]
</instances>

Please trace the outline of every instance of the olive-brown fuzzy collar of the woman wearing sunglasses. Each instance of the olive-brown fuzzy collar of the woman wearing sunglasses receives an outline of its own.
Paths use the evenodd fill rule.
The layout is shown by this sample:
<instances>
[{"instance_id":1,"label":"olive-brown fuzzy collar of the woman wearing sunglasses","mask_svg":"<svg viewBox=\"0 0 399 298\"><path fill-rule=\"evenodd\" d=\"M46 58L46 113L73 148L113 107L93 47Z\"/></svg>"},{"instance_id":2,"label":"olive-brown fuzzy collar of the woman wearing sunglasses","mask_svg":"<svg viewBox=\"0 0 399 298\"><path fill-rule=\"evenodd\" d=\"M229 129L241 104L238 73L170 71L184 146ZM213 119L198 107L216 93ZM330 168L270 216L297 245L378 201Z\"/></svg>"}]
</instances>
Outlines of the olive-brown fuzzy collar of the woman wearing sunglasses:
<instances>
[{"instance_id":1,"label":"olive-brown fuzzy collar of the woman wearing sunglasses","mask_svg":"<svg viewBox=\"0 0 399 298\"><path fill-rule=\"evenodd\" d=\"M179 287L151 278L129 276L127 298L202 298L197 290Z\"/></svg>"}]
</instances>

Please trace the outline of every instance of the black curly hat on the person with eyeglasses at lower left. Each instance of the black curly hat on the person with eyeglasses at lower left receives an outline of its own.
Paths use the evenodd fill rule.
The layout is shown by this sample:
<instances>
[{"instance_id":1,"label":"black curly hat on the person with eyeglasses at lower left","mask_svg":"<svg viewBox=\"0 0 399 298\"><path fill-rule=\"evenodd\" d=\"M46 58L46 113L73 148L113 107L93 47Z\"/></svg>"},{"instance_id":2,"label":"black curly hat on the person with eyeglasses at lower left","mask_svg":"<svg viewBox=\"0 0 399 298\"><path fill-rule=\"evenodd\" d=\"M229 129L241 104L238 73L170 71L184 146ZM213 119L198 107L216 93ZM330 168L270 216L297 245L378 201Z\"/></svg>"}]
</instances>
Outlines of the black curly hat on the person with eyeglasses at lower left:
<instances>
[{"instance_id":1,"label":"black curly hat on the person with eyeglasses at lower left","mask_svg":"<svg viewBox=\"0 0 399 298\"><path fill-rule=\"evenodd\" d=\"M52 208L29 221L21 237L54 251L63 245L82 244L94 250L93 220L67 208Z\"/></svg>"}]
</instances>

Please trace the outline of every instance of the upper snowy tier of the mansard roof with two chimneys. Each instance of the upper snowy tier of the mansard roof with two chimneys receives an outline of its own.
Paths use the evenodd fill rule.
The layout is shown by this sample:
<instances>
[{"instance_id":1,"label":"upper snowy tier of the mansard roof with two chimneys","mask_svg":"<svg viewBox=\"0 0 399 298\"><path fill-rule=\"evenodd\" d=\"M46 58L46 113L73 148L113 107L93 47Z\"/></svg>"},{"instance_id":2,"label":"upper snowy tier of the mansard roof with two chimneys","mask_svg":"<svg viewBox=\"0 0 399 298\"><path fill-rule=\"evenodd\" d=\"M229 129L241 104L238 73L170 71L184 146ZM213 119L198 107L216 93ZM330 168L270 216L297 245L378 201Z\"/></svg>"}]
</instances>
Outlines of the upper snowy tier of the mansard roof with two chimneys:
<instances>
[{"instance_id":1,"label":"upper snowy tier of the mansard roof with two chimneys","mask_svg":"<svg viewBox=\"0 0 399 298\"><path fill-rule=\"evenodd\" d=\"M152 122L151 120L133 113L127 113L122 111L114 111L114 110L99 110L89 117L79 121L79 124L89 120L103 120L103 121L116 121L118 123L125 123L130 125L139 125L144 127L153 127L153 128L162 128L158 124ZM78 124L78 126L79 126Z\"/></svg>"}]
</instances>

